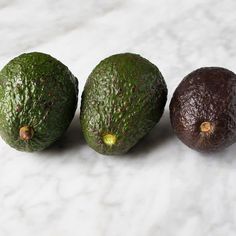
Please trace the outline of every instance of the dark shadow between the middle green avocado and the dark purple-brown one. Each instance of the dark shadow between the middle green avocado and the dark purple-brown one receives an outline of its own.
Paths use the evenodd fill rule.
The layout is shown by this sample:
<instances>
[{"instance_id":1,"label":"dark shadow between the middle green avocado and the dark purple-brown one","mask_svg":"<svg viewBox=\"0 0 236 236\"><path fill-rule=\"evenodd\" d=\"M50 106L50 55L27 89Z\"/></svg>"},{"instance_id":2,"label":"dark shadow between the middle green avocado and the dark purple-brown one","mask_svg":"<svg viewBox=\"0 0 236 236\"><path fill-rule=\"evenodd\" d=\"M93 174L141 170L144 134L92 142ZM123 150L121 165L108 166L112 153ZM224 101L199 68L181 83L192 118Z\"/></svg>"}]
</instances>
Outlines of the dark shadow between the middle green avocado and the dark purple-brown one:
<instances>
[{"instance_id":1,"label":"dark shadow between the middle green avocado and the dark purple-brown one","mask_svg":"<svg viewBox=\"0 0 236 236\"><path fill-rule=\"evenodd\" d=\"M174 137L171 128L169 112L165 111L159 123L142 138L128 153L131 157L147 154L153 149L164 145L167 141ZM144 156L144 155L143 155Z\"/></svg>"}]
</instances>

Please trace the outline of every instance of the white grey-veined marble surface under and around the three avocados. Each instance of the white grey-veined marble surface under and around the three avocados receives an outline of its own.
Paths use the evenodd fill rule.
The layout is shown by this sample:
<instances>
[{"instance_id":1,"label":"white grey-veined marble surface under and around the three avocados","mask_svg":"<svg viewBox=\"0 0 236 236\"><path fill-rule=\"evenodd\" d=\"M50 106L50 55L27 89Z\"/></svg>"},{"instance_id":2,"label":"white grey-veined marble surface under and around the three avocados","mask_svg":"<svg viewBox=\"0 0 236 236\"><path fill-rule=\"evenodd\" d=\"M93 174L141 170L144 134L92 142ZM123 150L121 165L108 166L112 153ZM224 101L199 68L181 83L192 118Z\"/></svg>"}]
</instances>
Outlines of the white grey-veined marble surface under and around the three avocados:
<instances>
[{"instance_id":1,"label":"white grey-veined marble surface under and around the three avocados","mask_svg":"<svg viewBox=\"0 0 236 236\"><path fill-rule=\"evenodd\" d=\"M0 0L0 66L28 51L69 66L80 94L104 57L135 52L162 71L159 125L128 155L102 156L78 114L46 151L0 141L1 236L235 236L236 144L202 155L172 134L171 95L200 66L236 71L235 0Z\"/></svg>"}]
</instances>

